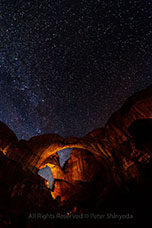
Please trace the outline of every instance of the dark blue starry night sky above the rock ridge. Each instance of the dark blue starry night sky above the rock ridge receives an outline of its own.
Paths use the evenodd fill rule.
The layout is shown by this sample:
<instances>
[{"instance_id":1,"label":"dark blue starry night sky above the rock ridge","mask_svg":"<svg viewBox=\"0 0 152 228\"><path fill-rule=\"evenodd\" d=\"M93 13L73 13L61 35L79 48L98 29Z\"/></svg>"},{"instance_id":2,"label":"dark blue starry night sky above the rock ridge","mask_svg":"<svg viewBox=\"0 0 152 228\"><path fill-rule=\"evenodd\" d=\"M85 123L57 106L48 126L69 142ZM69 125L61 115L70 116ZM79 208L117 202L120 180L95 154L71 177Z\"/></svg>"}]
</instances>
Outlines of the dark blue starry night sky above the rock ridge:
<instances>
[{"instance_id":1,"label":"dark blue starry night sky above the rock ridge","mask_svg":"<svg viewBox=\"0 0 152 228\"><path fill-rule=\"evenodd\" d=\"M151 0L0 0L0 120L83 136L152 83Z\"/></svg>"}]
</instances>

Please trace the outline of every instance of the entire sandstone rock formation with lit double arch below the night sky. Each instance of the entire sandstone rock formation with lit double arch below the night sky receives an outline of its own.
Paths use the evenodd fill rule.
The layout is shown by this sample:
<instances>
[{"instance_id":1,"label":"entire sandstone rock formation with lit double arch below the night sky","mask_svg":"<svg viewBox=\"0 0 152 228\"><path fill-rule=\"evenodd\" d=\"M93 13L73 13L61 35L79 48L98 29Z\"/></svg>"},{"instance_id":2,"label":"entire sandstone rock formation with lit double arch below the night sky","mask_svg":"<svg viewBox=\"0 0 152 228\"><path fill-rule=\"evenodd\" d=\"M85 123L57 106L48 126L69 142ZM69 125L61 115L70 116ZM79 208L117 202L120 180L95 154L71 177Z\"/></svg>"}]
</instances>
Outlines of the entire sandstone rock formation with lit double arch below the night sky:
<instances>
[{"instance_id":1,"label":"entire sandstone rock formation with lit double arch below the night sky","mask_svg":"<svg viewBox=\"0 0 152 228\"><path fill-rule=\"evenodd\" d=\"M57 152L65 148L74 149L62 168ZM130 210L141 217L144 201L152 202L151 151L152 86L130 97L105 128L82 138L46 134L18 140L0 122L1 226L23 219L32 227L27 216L40 211ZM38 175L46 165L53 173L52 190Z\"/></svg>"}]
</instances>

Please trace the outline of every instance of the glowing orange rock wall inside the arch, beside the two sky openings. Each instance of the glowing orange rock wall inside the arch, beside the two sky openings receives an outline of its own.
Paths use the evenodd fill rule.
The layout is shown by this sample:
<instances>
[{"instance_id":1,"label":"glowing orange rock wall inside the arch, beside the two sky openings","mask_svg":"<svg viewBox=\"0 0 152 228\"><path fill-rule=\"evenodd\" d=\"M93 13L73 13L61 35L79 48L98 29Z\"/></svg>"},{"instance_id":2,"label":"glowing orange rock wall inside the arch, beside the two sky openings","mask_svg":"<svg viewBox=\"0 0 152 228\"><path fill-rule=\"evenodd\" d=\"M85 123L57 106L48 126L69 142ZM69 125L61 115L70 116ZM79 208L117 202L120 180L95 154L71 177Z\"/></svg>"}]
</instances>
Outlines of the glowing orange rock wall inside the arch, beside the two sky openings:
<instances>
[{"instance_id":1,"label":"glowing orange rock wall inside the arch, beside the two sky openings","mask_svg":"<svg viewBox=\"0 0 152 228\"><path fill-rule=\"evenodd\" d=\"M59 164L54 168L51 167L54 177L53 198L60 197L63 202L70 200L76 194L78 197L79 192L85 190L86 184L93 183L98 173L101 173L101 169L103 169L101 163L92 153L83 149L73 149L63 169Z\"/></svg>"}]
</instances>

